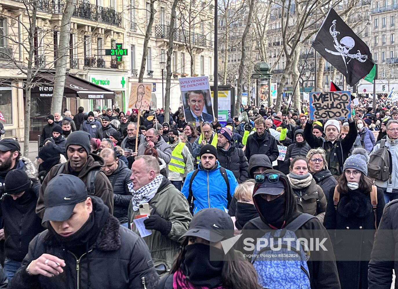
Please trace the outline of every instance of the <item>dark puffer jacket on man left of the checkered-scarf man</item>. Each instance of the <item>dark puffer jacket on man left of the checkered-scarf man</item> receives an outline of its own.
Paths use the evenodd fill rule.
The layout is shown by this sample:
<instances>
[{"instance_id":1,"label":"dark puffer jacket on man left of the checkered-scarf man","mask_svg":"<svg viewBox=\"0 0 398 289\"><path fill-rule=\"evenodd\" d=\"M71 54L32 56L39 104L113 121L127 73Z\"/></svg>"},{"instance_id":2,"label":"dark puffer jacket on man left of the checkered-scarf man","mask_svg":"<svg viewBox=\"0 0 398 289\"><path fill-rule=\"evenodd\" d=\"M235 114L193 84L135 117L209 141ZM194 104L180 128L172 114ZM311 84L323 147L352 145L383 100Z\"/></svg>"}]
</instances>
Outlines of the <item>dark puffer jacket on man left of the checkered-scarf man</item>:
<instances>
[{"instance_id":1,"label":"dark puffer jacket on man left of the checkered-scarf man","mask_svg":"<svg viewBox=\"0 0 398 289\"><path fill-rule=\"evenodd\" d=\"M117 169L108 176L113 188L113 216L115 216L121 224L127 222L127 211L133 195L131 195L127 185L131 183L131 170L126 164L119 160Z\"/></svg>"}]
</instances>

